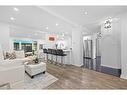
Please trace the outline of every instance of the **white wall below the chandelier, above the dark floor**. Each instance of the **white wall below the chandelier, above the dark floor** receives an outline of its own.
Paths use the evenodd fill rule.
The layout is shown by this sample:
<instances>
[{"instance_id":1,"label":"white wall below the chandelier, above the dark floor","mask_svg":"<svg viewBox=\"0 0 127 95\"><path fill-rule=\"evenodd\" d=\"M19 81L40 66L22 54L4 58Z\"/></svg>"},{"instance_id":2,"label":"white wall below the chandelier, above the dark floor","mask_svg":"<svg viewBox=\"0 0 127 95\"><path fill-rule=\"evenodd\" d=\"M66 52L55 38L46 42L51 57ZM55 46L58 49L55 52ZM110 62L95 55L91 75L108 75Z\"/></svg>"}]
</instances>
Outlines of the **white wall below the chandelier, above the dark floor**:
<instances>
[{"instance_id":1,"label":"white wall below the chandelier, above the dark floor","mask_svg":"<svg viewBox=\"0 0 127 95\"><path fill-rule=\"evenodd\" d=\"M121 68L120 26L119 21L112 23L111 31L101 28L101 65L110 68Z\"/></svg>"}]
</instances>

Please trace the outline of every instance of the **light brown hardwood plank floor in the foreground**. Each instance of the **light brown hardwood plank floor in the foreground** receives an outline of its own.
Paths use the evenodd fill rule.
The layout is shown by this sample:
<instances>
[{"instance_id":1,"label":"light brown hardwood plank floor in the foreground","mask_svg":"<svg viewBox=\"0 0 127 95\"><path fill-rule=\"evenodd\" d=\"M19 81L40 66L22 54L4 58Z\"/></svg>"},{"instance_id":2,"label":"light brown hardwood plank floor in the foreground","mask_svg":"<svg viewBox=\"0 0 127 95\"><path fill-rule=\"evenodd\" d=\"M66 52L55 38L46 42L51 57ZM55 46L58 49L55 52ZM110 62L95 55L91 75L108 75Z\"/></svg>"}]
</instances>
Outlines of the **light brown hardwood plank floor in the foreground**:
<instances>
[{"instance_id":1,"label":"light brown hardwood plank floor in the foreground","mask_svg":"<svg viewBox=\"0 0 127 95\"><path fill-rule=\"evenodd\" d=\"M47 63L47 72L59 80L45 89L127 89L127 80L76 66Z\"/></svg>"}]
</instances>

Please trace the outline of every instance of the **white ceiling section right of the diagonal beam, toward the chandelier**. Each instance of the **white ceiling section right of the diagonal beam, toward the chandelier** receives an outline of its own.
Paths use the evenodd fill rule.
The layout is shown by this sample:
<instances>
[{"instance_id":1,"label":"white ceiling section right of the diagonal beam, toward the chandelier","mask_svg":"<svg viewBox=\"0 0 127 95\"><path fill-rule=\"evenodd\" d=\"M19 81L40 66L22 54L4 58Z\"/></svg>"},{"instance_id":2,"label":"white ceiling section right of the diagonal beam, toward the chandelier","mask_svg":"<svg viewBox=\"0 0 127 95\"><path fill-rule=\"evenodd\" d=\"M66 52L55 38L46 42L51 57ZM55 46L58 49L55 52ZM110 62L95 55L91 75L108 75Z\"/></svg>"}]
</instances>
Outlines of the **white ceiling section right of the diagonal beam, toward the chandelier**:
<instances>
[{"instance_id":1,"label":"white ceiling section right of the diagonal beam, toward the chandelier","mask_svg":"<svg viewBox=\"0 0 127 95\"><path fill-rule=\"evenodd\" d=\"M103 18L127 12L127 6L49 6L46 8L79 25L92 24Z\"/></svg>"}]
</instances>

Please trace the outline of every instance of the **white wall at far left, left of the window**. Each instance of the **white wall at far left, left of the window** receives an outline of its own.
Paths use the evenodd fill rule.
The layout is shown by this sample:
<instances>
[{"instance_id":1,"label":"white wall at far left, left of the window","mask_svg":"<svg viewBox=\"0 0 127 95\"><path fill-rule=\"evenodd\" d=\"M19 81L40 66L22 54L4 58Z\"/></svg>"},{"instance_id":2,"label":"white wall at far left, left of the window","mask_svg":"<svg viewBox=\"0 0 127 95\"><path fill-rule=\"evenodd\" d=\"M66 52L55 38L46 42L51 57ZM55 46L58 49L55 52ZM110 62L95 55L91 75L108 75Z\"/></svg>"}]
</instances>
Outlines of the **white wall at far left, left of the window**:
<instances>
[{"instance_id":1,"label":"white wall at far left, left of the window","mask_svg":"<svg viewBox=\"0 0 127 95\"><path fill-rule=\"evenodd\" d=\"M7 24L0 23L0 44L4 51L10 50L9 38L9 26Z\"/></svg>"}]
</instances>

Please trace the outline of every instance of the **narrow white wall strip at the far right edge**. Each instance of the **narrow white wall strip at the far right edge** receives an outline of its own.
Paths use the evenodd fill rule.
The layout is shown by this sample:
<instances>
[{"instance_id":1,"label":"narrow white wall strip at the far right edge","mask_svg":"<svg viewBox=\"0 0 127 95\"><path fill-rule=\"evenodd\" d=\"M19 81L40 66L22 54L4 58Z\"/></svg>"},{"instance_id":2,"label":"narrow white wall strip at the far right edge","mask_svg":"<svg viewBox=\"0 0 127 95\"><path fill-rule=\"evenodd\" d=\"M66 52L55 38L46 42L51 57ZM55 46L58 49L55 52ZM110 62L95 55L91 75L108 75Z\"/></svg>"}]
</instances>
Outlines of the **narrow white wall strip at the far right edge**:
<instances>
[{"instance_id":1,"label":"narrow white wall strip at the far right edge","mask_svg":"<svg viewBox=\"0 0 127 95\"><path fill-rule=\"evenodd\" d=\"M127 79L127 14L121 16L121 78Z\"/></svg>"}]
</instances>

